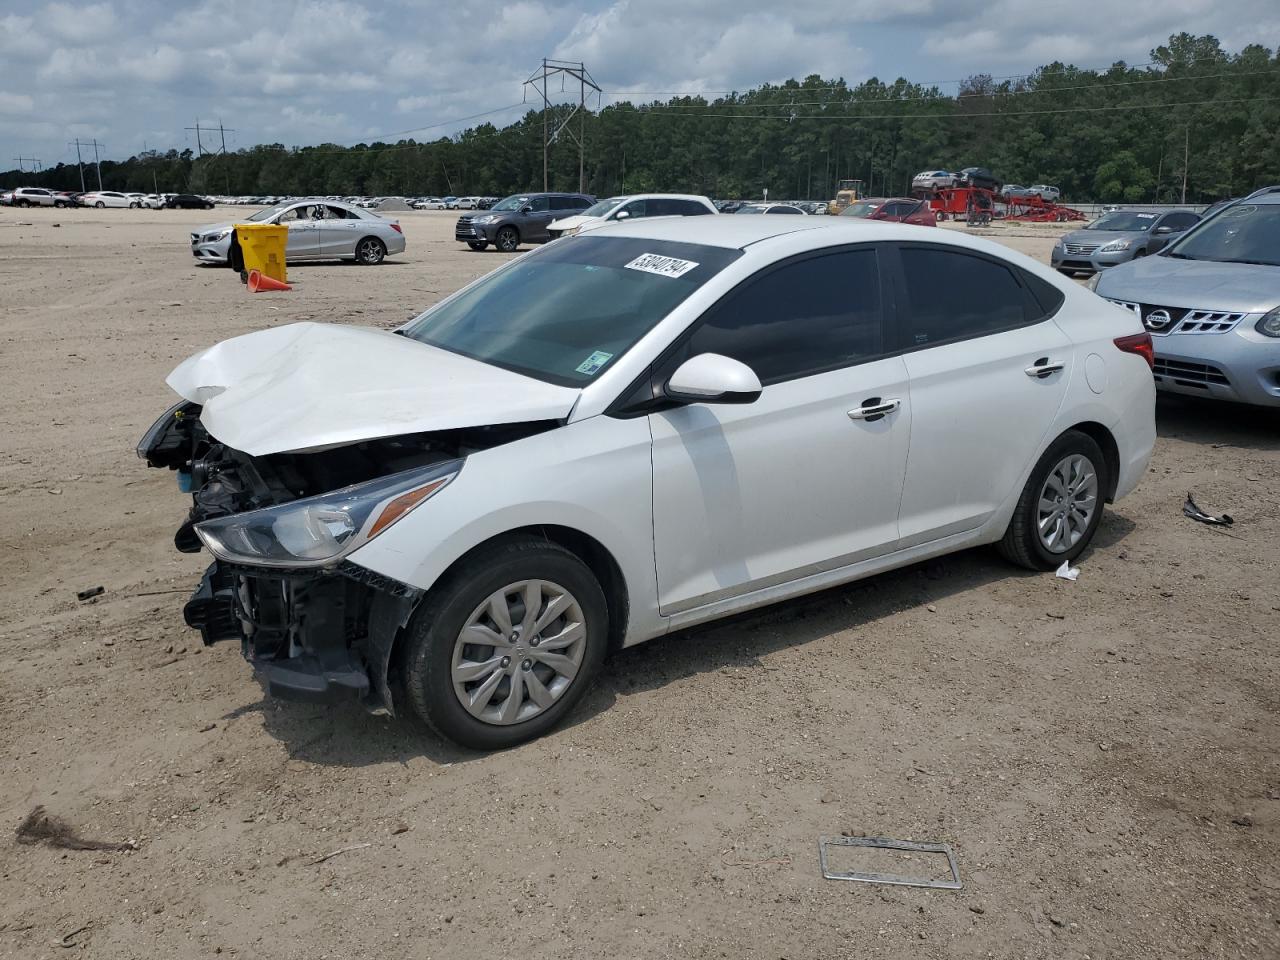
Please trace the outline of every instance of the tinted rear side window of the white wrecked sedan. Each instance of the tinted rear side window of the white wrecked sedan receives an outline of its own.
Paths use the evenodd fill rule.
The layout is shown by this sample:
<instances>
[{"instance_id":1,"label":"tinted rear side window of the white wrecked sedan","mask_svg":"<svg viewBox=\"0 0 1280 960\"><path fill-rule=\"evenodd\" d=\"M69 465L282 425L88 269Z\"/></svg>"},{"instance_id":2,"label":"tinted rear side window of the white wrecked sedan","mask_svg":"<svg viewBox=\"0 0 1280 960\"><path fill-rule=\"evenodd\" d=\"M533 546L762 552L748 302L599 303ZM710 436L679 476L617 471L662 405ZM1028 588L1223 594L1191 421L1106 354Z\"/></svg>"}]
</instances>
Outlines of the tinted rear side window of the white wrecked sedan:
<instances>
[{"instance_id":1,"label":"tinted rear side window of the white wrecked sedan","mask_svg":"<svg viewBox=\"0 0 1280 960\"><path fill-rule=\"evenodd\" d=\"M900 253L906 349L1010 330L1044 312L1014 270L995 260L924 246Z\"/></svg>"}]
</instances>

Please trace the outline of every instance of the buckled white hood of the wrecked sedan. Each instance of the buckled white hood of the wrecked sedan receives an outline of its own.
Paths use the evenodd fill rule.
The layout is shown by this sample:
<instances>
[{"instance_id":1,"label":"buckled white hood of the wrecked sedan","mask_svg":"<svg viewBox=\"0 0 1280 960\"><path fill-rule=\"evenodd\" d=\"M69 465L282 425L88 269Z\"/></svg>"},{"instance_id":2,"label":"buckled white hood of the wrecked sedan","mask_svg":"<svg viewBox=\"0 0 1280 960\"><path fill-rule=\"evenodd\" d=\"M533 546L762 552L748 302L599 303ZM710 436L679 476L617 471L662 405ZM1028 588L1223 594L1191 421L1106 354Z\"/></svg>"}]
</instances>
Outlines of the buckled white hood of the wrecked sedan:
<instances>
[{"instance_id":1,"label":"buckled white hood of the wrecked sedan","mask_svg":"<svg viewBox=\"0 0 1280 960\"><path fill-rule=\"evenodd\" d=\"M201 422L250 456L380 436L559 420L579 390L381 330L302 323L234 337L168 380Z\"/></svg>"}]
</instances>

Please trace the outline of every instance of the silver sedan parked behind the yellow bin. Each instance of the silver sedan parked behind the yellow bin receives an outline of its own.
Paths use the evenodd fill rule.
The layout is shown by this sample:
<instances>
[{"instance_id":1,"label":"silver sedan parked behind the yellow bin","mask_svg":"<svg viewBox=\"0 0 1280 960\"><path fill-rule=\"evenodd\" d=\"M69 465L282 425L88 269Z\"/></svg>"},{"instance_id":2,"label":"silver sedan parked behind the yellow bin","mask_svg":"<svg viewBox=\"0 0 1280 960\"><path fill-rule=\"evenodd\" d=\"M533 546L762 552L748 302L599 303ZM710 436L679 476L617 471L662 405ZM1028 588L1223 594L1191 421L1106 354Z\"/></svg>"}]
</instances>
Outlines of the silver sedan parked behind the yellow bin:
<instances>
[{"instance_id":1,"label":"silver sedan parked behind the yellow bin","mask_svg":"<svg viewBox=\"0 0 1280 960\"><path fill-rule=\"evenodd\" d=\"M357 264L380 264L404 252L399 220L388 220L339 200L294 200L259 210L243 220L198 227L191 234L191 255L202 264L242 270L241 251L233 242L237 223L287 227L287 262L355 260Z\"/></svg>"}]
</instances>

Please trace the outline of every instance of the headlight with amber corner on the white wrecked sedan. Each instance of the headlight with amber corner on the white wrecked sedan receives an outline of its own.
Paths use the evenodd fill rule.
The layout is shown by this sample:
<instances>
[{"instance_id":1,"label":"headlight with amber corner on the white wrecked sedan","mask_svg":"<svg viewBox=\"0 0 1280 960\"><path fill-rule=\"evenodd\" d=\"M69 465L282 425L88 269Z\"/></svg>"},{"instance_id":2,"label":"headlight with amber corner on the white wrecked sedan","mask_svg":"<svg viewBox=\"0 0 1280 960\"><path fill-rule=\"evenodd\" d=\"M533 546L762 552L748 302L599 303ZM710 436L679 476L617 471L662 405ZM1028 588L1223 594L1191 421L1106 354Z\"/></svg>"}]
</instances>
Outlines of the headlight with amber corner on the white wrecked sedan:
<instances>
[{"instance_id":1,"label":"headlight with amber corner on the white wrecked sedan","mask_svg":"<svg viewBox=\"0 0 1280 960\"><path fill-rule=\"evenodd\" d=\"M461 460L344 486L279 507L233 513L196 525L219 559L270 567L324 567L369 543L413 507L444 489Z\"/></svg>"}]
</instances>

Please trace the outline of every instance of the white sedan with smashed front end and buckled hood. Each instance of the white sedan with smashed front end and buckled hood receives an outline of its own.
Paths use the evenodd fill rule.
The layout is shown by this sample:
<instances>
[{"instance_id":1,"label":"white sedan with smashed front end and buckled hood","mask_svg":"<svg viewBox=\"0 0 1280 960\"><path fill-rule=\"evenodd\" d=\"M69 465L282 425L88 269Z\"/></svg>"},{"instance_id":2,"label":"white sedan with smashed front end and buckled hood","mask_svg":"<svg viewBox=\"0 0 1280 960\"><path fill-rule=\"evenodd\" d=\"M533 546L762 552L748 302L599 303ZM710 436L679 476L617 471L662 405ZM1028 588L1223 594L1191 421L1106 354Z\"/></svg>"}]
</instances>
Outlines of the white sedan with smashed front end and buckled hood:
<instances>
[{"instance_id":1,"label":"white sedan with smashed front end and buckled hood","mask_svg":"<svg viewBox=\"0 0 1280 960\"><path fill-rule=\"evenodd\" d=\"M271 694L547 732L611 648L996 544L1073 561L1155 442L1133 314L980 238L602 227L394 333L294 324L169 376L186 605ZM396 690L396 694L393 694Z\"/></svg>"}]
</instances>

